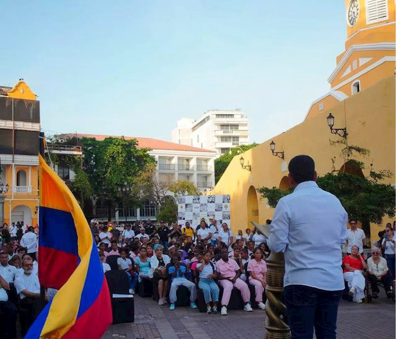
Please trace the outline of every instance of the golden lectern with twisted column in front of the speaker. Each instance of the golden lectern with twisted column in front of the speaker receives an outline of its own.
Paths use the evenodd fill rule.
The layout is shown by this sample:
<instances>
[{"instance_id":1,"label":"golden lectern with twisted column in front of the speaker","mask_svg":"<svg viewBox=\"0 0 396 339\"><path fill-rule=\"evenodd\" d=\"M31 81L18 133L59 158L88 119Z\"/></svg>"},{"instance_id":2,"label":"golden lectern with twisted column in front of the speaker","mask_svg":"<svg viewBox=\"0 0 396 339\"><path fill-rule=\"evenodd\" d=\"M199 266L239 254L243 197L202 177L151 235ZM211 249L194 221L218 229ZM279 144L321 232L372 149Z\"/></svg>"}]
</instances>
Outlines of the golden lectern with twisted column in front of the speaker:
<instances>
[{"instance_id":1,"label":"golden lectern with twisted column in front of the speaker","mask_svg":"<svg viewBox=\"0 0 396 339\"><path fill-rule=\"evenodd\" d=\"M251 222L257 231L268 238L271 225L259 225ZM284 254L271 254L267 262L267 302L265 303L265 339L290 339L290 328L287 325L286 306L283 300L283 278L285 276L285 258Z\"/></svg>"}]
</instances>

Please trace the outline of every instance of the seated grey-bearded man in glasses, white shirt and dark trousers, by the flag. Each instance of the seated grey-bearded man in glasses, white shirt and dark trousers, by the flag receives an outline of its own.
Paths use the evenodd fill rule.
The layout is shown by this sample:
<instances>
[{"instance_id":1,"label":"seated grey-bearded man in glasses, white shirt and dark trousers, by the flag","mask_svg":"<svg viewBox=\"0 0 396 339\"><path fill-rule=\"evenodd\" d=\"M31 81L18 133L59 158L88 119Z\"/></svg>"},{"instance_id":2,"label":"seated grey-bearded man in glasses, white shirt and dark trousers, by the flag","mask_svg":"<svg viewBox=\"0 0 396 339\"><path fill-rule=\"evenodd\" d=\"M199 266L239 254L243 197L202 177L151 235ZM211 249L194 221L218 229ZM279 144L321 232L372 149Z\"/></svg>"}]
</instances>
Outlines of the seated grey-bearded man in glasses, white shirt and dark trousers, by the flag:
<instances>
[{"instance_id":1,"label":"seated grey-bearded man in glasses, white shirt and dark trousers, by the flag","mask_svg":"<svg viewBox=\"0 0 396 339\"><path fill-rule=\"evenodd\" d=\"M15 288L21 298L19 319L21 334L25 336L40 312L40 282L38 282L38 276L33 273L33 261L31 259L23 259L22 268L24 272L17 275Z\"/></svg>"}]
</instances>

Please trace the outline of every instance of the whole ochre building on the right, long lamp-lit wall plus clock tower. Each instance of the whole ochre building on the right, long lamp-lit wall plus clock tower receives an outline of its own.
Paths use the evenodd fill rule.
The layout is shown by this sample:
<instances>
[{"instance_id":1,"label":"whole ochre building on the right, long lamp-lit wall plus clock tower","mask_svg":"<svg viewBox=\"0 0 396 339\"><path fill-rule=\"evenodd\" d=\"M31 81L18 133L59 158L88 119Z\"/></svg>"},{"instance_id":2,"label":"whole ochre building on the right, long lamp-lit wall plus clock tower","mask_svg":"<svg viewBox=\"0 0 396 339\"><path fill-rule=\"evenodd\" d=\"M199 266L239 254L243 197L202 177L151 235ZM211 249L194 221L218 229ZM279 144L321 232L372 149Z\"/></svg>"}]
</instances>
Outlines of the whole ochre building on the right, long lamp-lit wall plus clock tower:
<instances>
[{"instance_id":1,"label":"whole ochre building on the right, long lamp-lit wall plus clock tower","mask_svg":"<svg viewBox=\"0 0 396 339\"><path fill-rule=\"evenodd\" d=\"M314 100L304 121L259 146L234 157L219 180L214 194L231 195L232 229L245 229L250 221L265 223L274 210L257 195L257 187L289 187L287 165L299 154L310 155L319 175L333 168L346 172L358 169L339 156L343 140L330 133L327 116L335 117L333 128L346 128L346 142L371 151L367 159L357 158L374 170L387 169L394 176L385 182L396 184L396 1L348 0L345 3L347 39L345 51L329 76L330 91ZM303 112L302 112L303 117ZM275 152L270 150L271 141ZM335 158L333 165L331 159ZM361 175L368 175L367 166ZM388 218L371 225L371 239L377 238Z\"/></svg>"}]
</instances>

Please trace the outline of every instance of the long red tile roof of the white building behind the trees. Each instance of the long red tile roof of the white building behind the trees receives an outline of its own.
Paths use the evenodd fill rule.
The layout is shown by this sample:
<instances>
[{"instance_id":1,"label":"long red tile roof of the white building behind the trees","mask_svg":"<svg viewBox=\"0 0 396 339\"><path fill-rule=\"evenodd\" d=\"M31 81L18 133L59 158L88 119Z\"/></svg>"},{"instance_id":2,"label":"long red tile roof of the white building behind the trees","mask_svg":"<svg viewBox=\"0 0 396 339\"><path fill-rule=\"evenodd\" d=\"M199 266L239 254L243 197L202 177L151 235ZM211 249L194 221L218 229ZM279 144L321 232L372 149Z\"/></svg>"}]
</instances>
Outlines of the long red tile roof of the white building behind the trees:
<instances>
[{"instance_id":1,"label":"long red tile roof of the white building behind the trees","mask_svg":"<svg viewBox=\"0 0 396 339\"><path fill-rule=\"evenodd\" d=\"M86 133L69 133L62 134L63 138L77 137L77 138L95 138L98 141L102 141L105 138L120 138L119 135L101 135L101 134L86 134ZM124 136L126 140L136 139L139 148L150 148L152 150L172 150L172 151L192 151L192 152L213 152L211 150L205 150L204 148L197 148L187 145L175 144L174 142L158 140L153 138L141 138L139 136Z\"/></svg>"}]
</instances>

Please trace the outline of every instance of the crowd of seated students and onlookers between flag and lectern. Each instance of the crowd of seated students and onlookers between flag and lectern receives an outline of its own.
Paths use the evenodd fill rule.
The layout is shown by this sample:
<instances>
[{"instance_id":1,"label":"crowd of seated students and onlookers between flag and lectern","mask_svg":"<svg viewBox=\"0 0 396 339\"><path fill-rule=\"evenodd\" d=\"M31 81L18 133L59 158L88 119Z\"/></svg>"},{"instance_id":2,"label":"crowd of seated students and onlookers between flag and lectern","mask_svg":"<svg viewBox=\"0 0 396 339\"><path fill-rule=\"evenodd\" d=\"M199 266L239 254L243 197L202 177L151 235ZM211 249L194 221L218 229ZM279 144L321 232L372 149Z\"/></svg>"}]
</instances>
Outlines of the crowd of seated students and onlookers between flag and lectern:
<instances>
[{"instance_id":1,"label":"crowd of seated students and onlookers between flag and lectern","mask_svg":"<svg viewBox=\"0 0 396 339\"><path fill-rule=\"evenodd\" d=\"M265 237L256 231L247 229L243 234L239 230L234 237L226 223L219 227L213 218L209 218L209 225L202 219L196 229L188 222L168 227L165 222L154 226L150 220L125 225L122 232L115 232L113 227L109 230L107 225L98 226L96 220L91 220L103 271L110 270L107 258L119 256L118 269L128 274L131 294L135 294L137 282L150 281L158 289L158 305L169 302L169 309L173 310L180 286L188 288L192 308L197 307L200 289L207 313L226 315L233 288L240 290L245 311L252 311L251 285L257 307L265 309L268 248Z\"/></svg>"}]
</instances>

